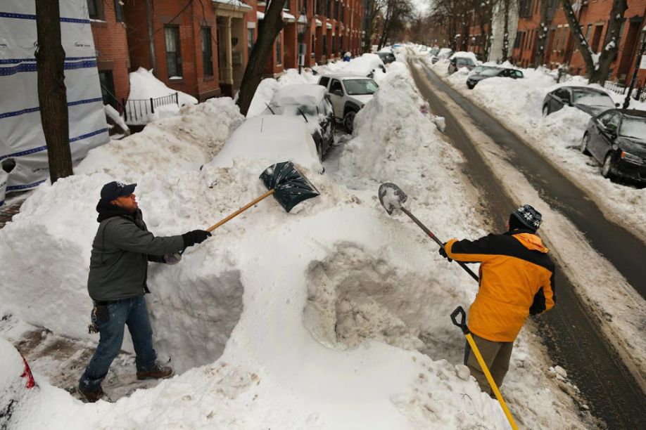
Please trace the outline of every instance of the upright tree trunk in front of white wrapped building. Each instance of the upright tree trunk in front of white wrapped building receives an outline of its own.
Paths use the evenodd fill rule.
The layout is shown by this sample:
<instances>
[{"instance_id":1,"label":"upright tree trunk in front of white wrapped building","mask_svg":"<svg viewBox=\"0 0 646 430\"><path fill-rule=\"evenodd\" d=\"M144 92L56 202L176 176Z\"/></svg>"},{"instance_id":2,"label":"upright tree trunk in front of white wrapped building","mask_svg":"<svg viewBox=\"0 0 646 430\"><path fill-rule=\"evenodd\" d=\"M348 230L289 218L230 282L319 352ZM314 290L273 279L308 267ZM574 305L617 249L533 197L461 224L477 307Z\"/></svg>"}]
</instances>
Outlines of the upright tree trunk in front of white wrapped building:
<instances>
[{"instance_id":1,"label":"upright tree trunk in front of white wrapped building","mask_svg":"<svg viewBox=\"0 0 646 430\"><path fill-rule=\"evenodd\" d=\"M58 1L36 0L38 101L49 178L55 183L72 172L68 96L65 89L65 50L61 45L61 13Z\"/></svg>"}]
</instances>

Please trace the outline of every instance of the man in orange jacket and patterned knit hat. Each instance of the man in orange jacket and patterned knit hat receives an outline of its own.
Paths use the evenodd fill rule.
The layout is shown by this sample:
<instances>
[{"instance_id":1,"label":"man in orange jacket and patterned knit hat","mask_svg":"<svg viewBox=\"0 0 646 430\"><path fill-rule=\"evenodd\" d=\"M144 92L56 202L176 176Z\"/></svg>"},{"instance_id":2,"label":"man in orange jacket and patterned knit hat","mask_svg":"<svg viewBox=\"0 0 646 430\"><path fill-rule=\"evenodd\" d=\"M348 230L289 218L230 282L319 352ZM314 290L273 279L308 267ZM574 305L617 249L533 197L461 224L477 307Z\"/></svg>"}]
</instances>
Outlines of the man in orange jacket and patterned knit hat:
<instances>
[{"instance_id":1,"label":"man in orange jacket and patterned knit hat","mask_svg":"<svg viewBox=\"0 0 646 430\"><path fill-rule=\"evenodd\" d=\"M540 213L524 204L509 215L507 233L474 241L452 239L439 251L449 261L480 263L480 289L469 308L467 325L498 386L505 379L514 340L527 315L549 311L556 301L554 263L536 235L541 222ZM464 364L482 391L491 395L468 343Z\"/></svg>"}]
</instances>

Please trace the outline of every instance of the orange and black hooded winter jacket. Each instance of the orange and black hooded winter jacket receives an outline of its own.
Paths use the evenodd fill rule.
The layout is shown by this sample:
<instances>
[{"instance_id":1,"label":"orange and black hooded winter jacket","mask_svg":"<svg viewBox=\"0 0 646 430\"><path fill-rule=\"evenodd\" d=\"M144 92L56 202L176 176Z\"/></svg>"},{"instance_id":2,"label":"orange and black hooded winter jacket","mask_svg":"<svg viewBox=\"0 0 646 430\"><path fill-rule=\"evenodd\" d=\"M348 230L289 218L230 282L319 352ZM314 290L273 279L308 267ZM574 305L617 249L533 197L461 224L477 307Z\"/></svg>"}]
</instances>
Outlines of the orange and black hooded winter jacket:
<instances>
[{"instance_id":1,"label":"orange and black hooded winter jacket","mask_svg":"<svg viewBox=\"0 0 646 430\"><path fill-rule=\"evenodd\" d=\"M513 230L478 240L446 242L451 259L479 262L480 289L469 308L469 330L497 342L513 342L527 315L549 311L556 302L554 263L530 230Z\"/></svg>"}]
</instances>

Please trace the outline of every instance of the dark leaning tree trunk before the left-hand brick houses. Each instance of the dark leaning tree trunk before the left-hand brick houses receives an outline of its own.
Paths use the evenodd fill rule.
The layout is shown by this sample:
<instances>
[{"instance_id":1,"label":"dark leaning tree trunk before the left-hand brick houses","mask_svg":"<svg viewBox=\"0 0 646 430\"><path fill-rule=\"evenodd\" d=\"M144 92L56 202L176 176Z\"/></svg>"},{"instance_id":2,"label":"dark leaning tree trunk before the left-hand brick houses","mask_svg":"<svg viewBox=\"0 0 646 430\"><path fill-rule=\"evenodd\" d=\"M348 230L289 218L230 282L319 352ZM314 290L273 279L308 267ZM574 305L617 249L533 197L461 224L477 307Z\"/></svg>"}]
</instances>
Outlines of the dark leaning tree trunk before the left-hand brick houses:
<instances>
[{"instance_id":1,"label":"dark leaning tree trunk before the left-hand brick houses","mask_svg":"<svg viewBox=\"0 0 646 430\"><path fill-rule=\"evenodd\" d=\"M242 115L247 115L255 90L258 89L258 84L262 80L262 69L265 67L267 54L272 52L274 41L283 29L282 11L284 4L285 0L274 0L267 8L267 13L265 13L262 31L258 33L258 41L253 45L251 56L240 83L238 106Z\"/></svg>"}]
</instances>

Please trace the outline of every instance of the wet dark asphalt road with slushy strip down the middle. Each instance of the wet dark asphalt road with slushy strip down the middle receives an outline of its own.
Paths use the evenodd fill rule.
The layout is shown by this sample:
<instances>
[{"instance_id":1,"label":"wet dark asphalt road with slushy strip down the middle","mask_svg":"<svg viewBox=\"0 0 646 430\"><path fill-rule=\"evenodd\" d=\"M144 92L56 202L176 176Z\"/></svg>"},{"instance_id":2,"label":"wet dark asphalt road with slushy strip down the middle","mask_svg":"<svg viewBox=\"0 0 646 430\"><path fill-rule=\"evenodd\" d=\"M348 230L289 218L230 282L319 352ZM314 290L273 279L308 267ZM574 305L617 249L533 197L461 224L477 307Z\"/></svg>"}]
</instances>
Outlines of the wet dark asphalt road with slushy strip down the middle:
<instances>
[{"instance_id":1,"label":"wet dark asphalt road with slushy strip down the middle","mask_svg":"<svg viewBox=\"0 0 646 430\"><path fill-rule=\"evenodd\" d=\"M481 204L494 220L495 228L505 230L509 208L515 204L498 183L491 181L493 172L482 162L467 133L433 91L443 91L450 96L481 131L505 148L512 164L538 190L540 197L573 221L588 237L590 245L613 263L643 297L646 289L644 243L605 219L599 208L574 183L498 121L442 82L429 67L419 64L424 72L410 67L419 91L429 102L433 113L445 117L445 133L467 159L464 173L486 197ZM571 381L581 390L590 412L602 419L609 429L646 429L646 396L600 333L598 323L590 317L558 263L556 285L556 308L535 318L552 362L567 370ZM545 413L551 413L549 407Z\"/></svg>"}]
</instances>

